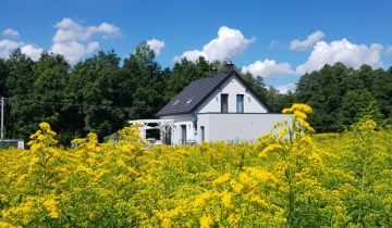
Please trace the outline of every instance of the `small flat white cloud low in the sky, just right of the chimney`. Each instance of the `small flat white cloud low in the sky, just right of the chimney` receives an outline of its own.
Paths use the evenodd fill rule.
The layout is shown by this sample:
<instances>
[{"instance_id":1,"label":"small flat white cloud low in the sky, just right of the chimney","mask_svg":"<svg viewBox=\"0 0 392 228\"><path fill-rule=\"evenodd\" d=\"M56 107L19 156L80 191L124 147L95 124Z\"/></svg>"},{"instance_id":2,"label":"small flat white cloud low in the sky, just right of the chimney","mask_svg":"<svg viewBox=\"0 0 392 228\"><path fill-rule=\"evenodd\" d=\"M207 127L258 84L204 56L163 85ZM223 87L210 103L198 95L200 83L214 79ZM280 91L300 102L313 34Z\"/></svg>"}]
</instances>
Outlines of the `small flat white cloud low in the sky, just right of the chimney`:
<instances>
[{"instance_id":1,"label":"small flat white cloud low in the sky, just right of the chimney","mask_svg":"<svg viewBox=\"0 0 392 228\"><path fill-rule=\"evenodd\" d=\"M258 60L248 66L243 66L242 72L249 72L254 76L264 78L295 74L289 63L277 63L274 60L268 59L262 62Z\"/></svg>"}]
</instances>

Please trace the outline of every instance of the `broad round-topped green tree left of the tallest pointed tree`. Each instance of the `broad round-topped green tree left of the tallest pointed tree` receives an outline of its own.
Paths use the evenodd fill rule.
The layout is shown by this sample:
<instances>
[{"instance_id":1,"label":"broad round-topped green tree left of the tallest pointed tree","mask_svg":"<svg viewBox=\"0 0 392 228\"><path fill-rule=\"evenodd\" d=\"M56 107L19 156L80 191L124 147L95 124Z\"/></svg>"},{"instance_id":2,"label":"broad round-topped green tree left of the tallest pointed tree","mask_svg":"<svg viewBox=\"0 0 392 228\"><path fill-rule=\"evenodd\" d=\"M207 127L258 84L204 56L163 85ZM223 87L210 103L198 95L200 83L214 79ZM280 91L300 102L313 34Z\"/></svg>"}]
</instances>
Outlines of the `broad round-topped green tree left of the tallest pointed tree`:
<instances>
[{"instance_id":1,"label":"broad round-topped green tree left of the tallest pointed tree","mask_svg":"<svg viewBox=\"0 0 392 228\"><path fill-rule=\"evenodd\" d=\"M68 106L75 135L95 131L100 137L121 128L126 118L121 87L120 58L113 52L99 52L75 65L68 81ZM127 104L130 106L131 104ZM77 111L76 111L77 110Z\"/></svg>"}]
</instances>

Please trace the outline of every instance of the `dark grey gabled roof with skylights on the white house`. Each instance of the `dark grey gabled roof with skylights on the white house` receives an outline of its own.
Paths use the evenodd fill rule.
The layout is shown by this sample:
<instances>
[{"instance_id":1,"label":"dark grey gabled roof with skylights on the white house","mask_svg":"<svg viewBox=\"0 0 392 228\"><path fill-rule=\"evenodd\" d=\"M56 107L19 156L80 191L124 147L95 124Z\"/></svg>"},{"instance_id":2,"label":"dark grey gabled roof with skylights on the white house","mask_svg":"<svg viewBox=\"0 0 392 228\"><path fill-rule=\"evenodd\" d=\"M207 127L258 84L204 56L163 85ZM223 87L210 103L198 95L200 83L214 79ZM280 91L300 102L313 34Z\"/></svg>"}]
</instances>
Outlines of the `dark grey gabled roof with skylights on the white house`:
<instances>
[{"instance_id":1,"label":"dark grey gabled roof with skylights on the white house","mask_svg":"<svg viewBox=\"0 0 392 228\"><path fill-rule=\"evenodd\" d=\"M235 72L231 71L223 75L201 78L191 83L167 105L164 105L156 115L168 116L194 112L205 100L207 100L217 89L220 88L231 76L236 77L246 89L253 93L256 99L271 112L271 109L261 100L261 98L245 83L245 80Z\"/></svg>"}]
</instances>

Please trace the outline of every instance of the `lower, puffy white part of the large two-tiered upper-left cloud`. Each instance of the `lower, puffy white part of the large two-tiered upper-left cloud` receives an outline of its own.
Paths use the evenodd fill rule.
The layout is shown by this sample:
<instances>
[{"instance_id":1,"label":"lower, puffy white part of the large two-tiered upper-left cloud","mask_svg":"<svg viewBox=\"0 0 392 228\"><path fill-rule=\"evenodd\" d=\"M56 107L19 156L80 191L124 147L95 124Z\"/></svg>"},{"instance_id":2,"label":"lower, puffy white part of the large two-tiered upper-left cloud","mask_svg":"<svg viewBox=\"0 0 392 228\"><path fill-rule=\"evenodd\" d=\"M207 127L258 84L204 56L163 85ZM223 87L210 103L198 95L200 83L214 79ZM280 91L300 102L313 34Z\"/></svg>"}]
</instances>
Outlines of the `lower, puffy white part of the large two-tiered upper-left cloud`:
<instances>
[{"instance_id":1,"label":"lower, puffy white part of the large two-tiered upper-left cloud","mask_svg":"<svg viewBox=\"0 0 392 228\"><path fill-rule=\"evenodd\" d=\"M98 42L89 42L87 45L82 45L76 41L54 42L51 47L51 52L65 56L65 59L74 65L86 54L97 51L98 48Z\"/></svg>"}]
</instances>

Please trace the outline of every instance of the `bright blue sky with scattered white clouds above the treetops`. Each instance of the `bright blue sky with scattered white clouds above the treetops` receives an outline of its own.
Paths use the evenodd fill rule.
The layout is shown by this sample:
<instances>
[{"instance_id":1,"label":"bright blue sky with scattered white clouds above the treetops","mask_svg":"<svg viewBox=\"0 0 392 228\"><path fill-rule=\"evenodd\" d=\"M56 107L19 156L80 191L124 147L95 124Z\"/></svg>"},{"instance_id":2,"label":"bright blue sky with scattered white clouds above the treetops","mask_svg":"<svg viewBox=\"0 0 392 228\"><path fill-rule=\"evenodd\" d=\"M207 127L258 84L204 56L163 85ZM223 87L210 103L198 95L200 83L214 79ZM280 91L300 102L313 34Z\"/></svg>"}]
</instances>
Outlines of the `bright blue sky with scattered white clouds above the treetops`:
<instances>
[{"instance_id":1,"label":"bright blue sky with scattered white clouds above the treetops","mask_svg":"<svg viewBox=\"0 0 392 228\"><path fill-rule=\"evenodd\" d=\"M74 64L98 50L114 49L124 58L150 40L164 67L181 56L229 56L282 91L326 63L392 65L388 0L1 0L1 58L19 47L33 59L49 50Z\"/></svg>"}]
</instances>

